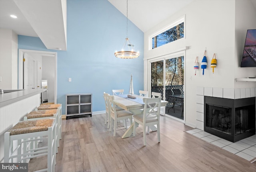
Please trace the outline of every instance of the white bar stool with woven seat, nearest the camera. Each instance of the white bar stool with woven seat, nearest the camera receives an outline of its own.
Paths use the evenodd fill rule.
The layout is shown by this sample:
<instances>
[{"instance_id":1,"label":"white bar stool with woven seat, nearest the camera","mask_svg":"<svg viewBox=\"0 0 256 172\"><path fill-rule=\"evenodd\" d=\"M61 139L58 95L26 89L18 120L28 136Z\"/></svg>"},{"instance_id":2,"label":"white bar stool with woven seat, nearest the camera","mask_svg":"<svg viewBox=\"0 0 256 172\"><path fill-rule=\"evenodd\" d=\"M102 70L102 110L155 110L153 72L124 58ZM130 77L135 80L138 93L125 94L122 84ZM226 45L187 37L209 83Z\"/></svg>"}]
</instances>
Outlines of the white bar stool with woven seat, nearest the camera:
<instances>
[{"instance_id":1,"label":"white bar stool with woven seat, nearest the camera","mask_svg":"<svg viewBox=\"0 0 256 172\"><path fill-rule=\"evenodd\" d=\"M47 155L47 172L54 172L55 165L55 119L38 119L33 121L18 122L4 134L4 162L18 163L28 162L27 160ZM46 136L46 137L45 137ZM47 139L47 146L37 149L28 149L30 142L42 137ZM14 148L14 141L18 144ZM14 159L16 158L16 159ZM43 171L40 170L40 171Z\"/></svg>"}]
</instances>

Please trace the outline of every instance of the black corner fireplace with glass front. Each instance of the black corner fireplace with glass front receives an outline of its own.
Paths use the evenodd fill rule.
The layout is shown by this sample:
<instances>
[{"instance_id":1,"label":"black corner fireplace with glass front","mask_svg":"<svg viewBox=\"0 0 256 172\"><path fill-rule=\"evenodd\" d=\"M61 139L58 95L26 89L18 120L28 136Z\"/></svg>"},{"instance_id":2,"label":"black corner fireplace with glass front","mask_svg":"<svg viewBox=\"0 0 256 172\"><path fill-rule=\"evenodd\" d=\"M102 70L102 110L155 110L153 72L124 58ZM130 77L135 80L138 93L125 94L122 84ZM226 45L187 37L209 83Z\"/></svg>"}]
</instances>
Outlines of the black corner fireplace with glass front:
<instances>
[{"instance_id":1,"label":"black corner fireplace with glass front","mask_svg":"<svg viewBox=\"0 0 256 172\"><path fill-rule=\"evenodd\" d=\"M231 142L255 134L255 97L227 99L204 96L204 131Z\"/></svg>"}]
</instances>

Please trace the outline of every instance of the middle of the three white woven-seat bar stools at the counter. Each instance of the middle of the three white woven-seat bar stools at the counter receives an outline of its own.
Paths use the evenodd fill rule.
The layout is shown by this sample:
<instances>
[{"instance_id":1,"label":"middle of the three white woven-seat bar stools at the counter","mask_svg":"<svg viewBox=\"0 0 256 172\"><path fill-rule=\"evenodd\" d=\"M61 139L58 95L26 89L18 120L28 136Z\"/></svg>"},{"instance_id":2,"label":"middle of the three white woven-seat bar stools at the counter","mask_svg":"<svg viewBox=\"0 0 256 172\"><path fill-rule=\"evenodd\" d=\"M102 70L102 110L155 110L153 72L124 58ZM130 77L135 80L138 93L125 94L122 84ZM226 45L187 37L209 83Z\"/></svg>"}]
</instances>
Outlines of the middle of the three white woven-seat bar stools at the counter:
<instances>
[{"instance_id":1,"label":"middle of the three white woven-seat bar stools at the counter","mask_svg":"<svg viewBox=\"0 0 256 172\"><path fill-rule=\"evenodd\" d=\"M55 127L55 133L56 133L56 143L58 143L58 139L59 139L59 135L58 135L58 131L57 128L59 126L58 119L58 109L50 109L50 110L38 110L38 111L31 111L30 113L28 113L26 116L24 116L24 121L31 121L31 120L37 120L37 119L49 119L49 118L54 118L56 121L56 127ZM30 144L30 147L32 149L34 144ZM35 148L37 148L38 142L35 142ZM56 148L55 151L56 153L58 153L58 144L55 144Z\"/></svg>"}]
</instances>

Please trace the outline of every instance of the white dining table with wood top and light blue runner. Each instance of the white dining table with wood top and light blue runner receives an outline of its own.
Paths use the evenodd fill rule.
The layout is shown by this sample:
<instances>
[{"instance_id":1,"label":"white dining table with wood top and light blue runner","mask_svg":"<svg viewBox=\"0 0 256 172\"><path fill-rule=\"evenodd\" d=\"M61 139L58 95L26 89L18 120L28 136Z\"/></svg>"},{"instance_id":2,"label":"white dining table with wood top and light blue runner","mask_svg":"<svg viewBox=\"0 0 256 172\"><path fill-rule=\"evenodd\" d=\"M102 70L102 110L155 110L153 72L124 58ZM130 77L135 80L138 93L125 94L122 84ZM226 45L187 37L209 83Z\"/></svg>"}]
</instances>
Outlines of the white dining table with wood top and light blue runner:
<instances>
[{"instance_id":1,"label":"white dining table with wood top and light blue runner","mask_svg":"<svg viewBox=\"0 0 256 172\"><path fill-rule=\"evenodd\" d=\"M130 111L133 109L143 109L144 108L144 103L143 103L143 98L144 96L139 96L136 94L132 94L132 96L135 96L136 99L129 98L127 94L121 94L114 96L114 103L116 106L119 106L120 108ZM165 106L167 105L168 101L161 100L161 107L164 107L164 114L165 114ZM133 133L133 126L134 123L126 130L126 132L122 135L122 138L127 138L130 137ZM150 129L152 131L157 131L157 128L155 126L151 126Z\"/></svg>"}]
</instances>

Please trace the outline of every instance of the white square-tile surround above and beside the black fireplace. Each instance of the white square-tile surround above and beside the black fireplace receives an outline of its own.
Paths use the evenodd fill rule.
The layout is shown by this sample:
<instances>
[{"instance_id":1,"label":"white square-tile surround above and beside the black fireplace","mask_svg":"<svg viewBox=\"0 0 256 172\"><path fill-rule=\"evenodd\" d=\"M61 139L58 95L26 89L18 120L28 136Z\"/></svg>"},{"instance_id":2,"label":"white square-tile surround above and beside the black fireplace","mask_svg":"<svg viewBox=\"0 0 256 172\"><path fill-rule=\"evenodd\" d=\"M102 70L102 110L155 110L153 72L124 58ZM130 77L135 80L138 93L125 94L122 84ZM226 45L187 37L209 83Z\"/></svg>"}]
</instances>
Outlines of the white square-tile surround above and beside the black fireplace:
<instances>
[{"instance_id":1,"label":"white square-tile surround above and beside the black fireplace","mask_svg":"<svg viewBox=\"0 0 256 172\"><path fill-rule=\"evenodd\" d=\"M196 128L204 131L204 96L240 99L256 97L256 88L196 88Z\"/></svg>"}]
</instances>

